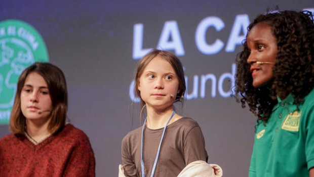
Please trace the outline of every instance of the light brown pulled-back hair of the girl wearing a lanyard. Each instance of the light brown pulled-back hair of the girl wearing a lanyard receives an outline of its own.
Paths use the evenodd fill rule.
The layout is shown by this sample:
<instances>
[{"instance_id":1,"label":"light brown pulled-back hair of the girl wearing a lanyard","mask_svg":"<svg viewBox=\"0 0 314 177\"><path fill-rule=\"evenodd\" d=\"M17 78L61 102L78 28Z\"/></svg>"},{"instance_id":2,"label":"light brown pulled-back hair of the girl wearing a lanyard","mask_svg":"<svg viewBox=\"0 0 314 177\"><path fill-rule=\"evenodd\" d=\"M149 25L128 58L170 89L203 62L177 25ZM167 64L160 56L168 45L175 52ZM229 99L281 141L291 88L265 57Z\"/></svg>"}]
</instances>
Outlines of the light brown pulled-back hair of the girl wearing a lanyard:
<instances>
[{"instance_id":1,"label":"light brown pulled-back hair of the girl wearing a lanyard","mask_svg":"<svg viewBox=\"0 0 314 177\"><path fill-rule=\"evenodd\" d=\"M184 71L183 66L178 57L176 57L173 53L168 51L162 51L162 50L152 50L148 54L146 54L137 64L136 67L136 74L135 74L135 86L134 86L134 92L137 97L141 99L141 108L145 105L145 102L141 98L140 91L137 89L139 84L139 78L141 77L145 67L148 65L148 63L154 59L156 56L160 56L161 58L167 60L172 68L174 69L178 80L179 80L179 92L176 95L175 102L182 101L184 93L185 93L185 78L184 78Z\"/></svg>"}]
</instances>

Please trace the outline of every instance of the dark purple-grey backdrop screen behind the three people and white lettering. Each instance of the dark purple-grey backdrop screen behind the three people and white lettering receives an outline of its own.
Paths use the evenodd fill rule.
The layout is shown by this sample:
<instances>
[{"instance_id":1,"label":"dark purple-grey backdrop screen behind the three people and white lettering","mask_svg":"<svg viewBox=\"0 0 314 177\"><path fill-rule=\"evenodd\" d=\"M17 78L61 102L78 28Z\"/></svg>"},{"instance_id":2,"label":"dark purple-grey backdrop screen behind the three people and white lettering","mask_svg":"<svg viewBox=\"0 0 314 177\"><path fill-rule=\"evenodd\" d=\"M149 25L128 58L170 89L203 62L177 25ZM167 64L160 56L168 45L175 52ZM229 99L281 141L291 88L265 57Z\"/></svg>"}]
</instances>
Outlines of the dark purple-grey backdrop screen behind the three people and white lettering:
<instances>
[{"instance_id":1,"label":"dark purple-grey backdrop screen behind the three people and white lettering","mask_svg":"<svg viewBox=\"0 0 314 177\"><path fill-rule=\"evenodd\" d=\"M231 97L218 92L218 80L231 73L238 45L226 52L228 38L237 15L252 21L267 8L303 10L313 1L0 1L0 21L17 19L32 25L44 38L49 61L66 76L69 93L68 119L89 136L96 157L97 176L117 176L121 163L121 141L139 127L139 104L132 107L129 86L137 60L133 59L133 26L144 26L143 48L156 48L165 22L176 21L184 48L179 56L188 78L188 94L193 77L199 77L197 98L186 100L179 113L199 122L206 141L209 163L223 168L224 176L247 176L254 139L255 117ZM195 31L210 16L220 18L220 31L209 28L206 41L219 38L224 47L217 54L200 52ZM171 40L171 38L170 38ZM202 75L217 78L216 96L211 81L205 98L200 97ZM224 91L232 80L225 79ZM9 134L0 126L0 137Z\"/></svg>"}]
</instances>

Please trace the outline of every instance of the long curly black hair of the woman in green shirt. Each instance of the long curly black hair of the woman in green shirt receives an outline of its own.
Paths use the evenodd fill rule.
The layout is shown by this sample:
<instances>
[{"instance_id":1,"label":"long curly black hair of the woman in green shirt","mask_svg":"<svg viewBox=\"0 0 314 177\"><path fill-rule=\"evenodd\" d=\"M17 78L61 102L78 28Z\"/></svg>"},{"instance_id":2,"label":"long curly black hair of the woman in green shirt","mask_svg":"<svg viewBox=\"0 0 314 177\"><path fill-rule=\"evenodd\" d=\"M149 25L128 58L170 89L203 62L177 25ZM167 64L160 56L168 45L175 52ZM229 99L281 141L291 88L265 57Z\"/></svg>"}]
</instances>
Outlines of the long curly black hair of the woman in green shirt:
<instances>
[{"instance_id":1,"label":"long curly black hair of the woman in green shirt","mask_svg":"<svg viewBox=\"0 0 314 177\"><path fill-rule=\"evenodd\" d=\"M248 104L250 111L259 120L267 122L271 110L280 98L292 94L294 104L304 101L304 97L314 87L314 22L313 14L308 11L282 11L258 15L248 26L249 31L258 23L272 27L277 39L278 53L272 68L273 78L265 85L255 88L247 59L250 55L247 41L243 51L237 55L237 74L232 96Z\"/></svg>"}]
</instances>

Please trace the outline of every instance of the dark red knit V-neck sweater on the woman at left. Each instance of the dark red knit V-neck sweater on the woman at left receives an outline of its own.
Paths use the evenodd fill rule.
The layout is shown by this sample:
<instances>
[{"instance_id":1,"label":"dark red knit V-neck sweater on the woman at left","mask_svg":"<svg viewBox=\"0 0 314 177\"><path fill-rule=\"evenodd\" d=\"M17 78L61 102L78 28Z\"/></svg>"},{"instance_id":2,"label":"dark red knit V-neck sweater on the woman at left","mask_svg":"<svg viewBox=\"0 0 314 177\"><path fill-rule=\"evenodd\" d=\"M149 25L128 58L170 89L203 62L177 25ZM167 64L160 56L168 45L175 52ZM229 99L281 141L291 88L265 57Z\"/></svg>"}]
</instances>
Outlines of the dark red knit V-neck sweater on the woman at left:
<instances>
[{"instance_id":1,"label":"dark red knit V-neck sweater on the woman at left","mask_svg":"<svg viewBox=\"0 0 314 177\"><path fill-rule=\"evenodd\" d=\"M0 176L95 176L95 158L88 137L71 124L42 143L25 136L0 139Z\"/></svg>"}]
</instances>

